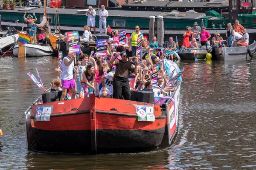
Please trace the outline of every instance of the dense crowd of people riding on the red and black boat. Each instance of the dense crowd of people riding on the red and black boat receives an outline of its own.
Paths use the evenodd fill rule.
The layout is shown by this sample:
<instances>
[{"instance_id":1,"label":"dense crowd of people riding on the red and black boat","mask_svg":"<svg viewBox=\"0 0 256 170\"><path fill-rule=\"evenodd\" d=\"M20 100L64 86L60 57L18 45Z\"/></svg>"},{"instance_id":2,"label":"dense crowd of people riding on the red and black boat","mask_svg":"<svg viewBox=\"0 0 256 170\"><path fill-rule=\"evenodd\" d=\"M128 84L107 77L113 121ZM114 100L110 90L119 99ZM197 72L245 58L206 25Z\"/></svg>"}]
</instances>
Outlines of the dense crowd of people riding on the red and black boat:
<instances>
[{"instance_id":1,"label":"dense crowd of people riding on the red and black boat","mask_svg":"<svg viewBox=\"0 0 256 170\"><path fill-rule=\"evenodd\" d=\"M89 30L86 31L89 32ZM119 30L114 31L112 37L116 34L119 35ZM158 42L155 36L151 42L143 38L143 48L147 49L148 54L142 59L141 54L136 54L139 34L140 27L136 26L131 37L128 38L130 41L127 41L125 45L116 43L119 41L115 41L115 38L109 39L106 57L96 57L94 51L91 51L90 55L81 52L77 64L75 60L78 54L70 54L67 50L67 56L62 59L62 70L55 68L55 71L61 75L61 100L67 99L67 96L70 99L88 97L95 92L96 83L99 85L101 97L116 99L131 99L131 90L151 89L156 97L166 96L167 91L174 91L174 87L166 85L168 74L166 74L163 59L168 58L168 54L156 55L154 48L158 47ZM66 37L62 40L67 45ZM169 44L166 50L176 47L172 37L170 37ZM131 51L132 56L128 57L126 51ZM151 76L154 65L160 65L160 69L157 83L152 85ZM134 84L129 80L132 76ZM57 85L57 87L59 86ZM56 86L52 88L56 88Z\"/></svg>"}]
</instances>

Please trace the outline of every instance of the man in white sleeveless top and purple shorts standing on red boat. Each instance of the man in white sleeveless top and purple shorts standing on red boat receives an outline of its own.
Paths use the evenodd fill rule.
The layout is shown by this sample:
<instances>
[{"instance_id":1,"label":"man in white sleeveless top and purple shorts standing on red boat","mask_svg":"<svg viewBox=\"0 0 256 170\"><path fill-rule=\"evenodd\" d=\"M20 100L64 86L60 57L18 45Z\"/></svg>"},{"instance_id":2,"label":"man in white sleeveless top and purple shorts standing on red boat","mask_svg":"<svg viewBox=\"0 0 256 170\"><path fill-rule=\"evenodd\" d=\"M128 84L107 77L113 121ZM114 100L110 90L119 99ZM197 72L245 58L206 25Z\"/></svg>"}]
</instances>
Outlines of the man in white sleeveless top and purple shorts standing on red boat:
<instances>
[{"instance_id":1,"label":"man in white sleeveless top and purple shorts standing on red boat","mask_svg":"<svg viewBox=\"0 0 256 170\"><path fill-rule=\"evenodd\" d=\"M71 89L71 99L75 99L76 97L76 82L73 79L73 67L74 60L76 59L76 54L70 54L67 51L67 57L64 57L62 60L62 76L61 76L61 84L62 84L62 95L61 100L64 100L67 95L67 89Z\"/></svg>"}]
</instances>

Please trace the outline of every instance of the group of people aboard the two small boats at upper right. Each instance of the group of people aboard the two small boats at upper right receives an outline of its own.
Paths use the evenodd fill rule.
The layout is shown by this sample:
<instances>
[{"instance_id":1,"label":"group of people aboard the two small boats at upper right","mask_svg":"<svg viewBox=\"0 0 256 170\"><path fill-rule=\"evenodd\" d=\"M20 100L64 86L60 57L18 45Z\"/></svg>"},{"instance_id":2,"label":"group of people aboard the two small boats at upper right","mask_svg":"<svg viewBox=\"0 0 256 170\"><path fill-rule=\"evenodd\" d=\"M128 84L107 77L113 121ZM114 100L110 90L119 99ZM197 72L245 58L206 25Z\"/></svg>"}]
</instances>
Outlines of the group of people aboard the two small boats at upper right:
<instances>
[{"instance_id":1,"label":"group of people aboard the two small boats at upper right","mask_svg":"<svg viewBox=\"0 0 256 170\"><path fill-rule=\"evenodd\" d=\"M191 42L189 41L189 37L193 34ZM198 26L198 23L194 23L194 27L186 26L186 31L183 34L183 47L186 48L199 48L205 46L205 48L209 48L208 41L212 36L206 31L206 27ZM235 24L232 26L231 23L227 23L227 31L226 31L227 40L224 40L223 37L220 37L218 32L214 33L214 37L211 40L212 48L225 47L225 42L227 42L227 47L236 46L248 46L249 45L249 34L247 33L246 28L239 24L239 20L235 20ZM235 44L234 44L235 42ZM167 44L168 46L168 44Z\"/></svg>"}]
</instances>

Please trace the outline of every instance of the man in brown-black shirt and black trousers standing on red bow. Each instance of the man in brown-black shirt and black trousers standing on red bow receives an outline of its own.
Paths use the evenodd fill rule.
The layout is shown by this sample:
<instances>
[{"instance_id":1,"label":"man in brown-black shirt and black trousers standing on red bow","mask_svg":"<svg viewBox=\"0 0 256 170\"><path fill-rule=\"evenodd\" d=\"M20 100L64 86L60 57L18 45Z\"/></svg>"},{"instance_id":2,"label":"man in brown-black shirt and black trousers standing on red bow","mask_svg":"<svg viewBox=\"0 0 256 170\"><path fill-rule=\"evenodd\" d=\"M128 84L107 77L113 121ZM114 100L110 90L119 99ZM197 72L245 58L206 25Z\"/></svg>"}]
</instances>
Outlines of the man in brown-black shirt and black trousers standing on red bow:
<instances>
[{"instance_id":1,"label":"man in brown-black shirt and black trousers standing on red bow","mask_svg":"<svg viewBox=\"0 0 256 170\"><path fill-rule=\"evenodd\" d=\"M116 72L113 79L113 98L120 99L122 95L125 100L131 99L129 71L136 74L138 62L135 61L135 68L131 62L127 61L127 54L125 51L120 53L122 60L115 60L119 56L119 52L111 58L110 64L116 65Z\"/></svg>"}]
</instances>

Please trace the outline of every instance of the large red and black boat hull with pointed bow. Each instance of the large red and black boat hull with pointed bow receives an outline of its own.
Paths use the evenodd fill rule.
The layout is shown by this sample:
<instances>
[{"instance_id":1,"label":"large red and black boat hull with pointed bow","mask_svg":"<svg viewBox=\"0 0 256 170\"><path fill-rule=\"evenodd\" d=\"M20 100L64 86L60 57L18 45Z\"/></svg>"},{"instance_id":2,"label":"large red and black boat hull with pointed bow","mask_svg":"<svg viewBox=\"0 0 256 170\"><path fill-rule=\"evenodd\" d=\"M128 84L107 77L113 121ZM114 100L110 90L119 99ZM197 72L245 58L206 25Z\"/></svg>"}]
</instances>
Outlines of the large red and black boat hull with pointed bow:
<instances>
[{"instance_id":1,"label":"large red and black boat hull with pointed bow","mask_svg":"<svg viewBox=\"0 0 256 170\"><path fill-rule=\"evenodd\" d=\"M122 153L148 151L171 144L177 131L180 82L172 94L174 102L153 105L123 99L87 98L47 102L25 112L29 150ZM154 122L138 121L136 106L154 108ZM49 121L35 121L50 111ZM43 111L44 110L44 111ZM47 118L48 119L48 118Z\"/></svg>"}]
</instances>

